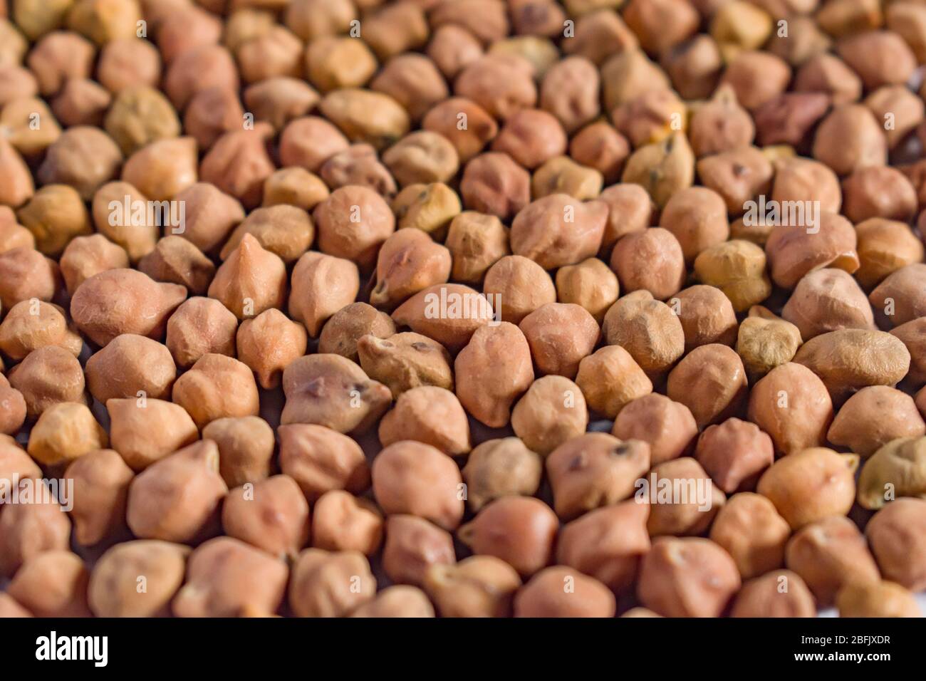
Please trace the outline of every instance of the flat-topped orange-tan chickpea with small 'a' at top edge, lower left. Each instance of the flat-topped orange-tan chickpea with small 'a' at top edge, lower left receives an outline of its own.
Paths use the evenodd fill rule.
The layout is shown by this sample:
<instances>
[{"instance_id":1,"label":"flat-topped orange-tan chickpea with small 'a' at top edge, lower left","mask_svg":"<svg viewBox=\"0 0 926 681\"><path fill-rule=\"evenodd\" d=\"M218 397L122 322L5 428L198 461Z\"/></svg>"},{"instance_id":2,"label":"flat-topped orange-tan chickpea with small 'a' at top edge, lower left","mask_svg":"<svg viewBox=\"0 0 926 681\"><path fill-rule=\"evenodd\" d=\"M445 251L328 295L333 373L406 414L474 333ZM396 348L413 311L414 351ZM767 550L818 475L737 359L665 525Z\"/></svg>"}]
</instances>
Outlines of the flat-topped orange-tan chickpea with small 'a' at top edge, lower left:
<instances>
[{"instance_id":1,"label":"flat-topped orange-tan chickpea with small 'a' at top edge, lower left","mask_svg":"<svg viewBox=\"0 0 926 681\"><path fill-rule=\"evenodd\" d=\"M162 399L110 399L106 410L112 448L136 473L199 437L186 410Z\"/></svg>"}]
</instances>

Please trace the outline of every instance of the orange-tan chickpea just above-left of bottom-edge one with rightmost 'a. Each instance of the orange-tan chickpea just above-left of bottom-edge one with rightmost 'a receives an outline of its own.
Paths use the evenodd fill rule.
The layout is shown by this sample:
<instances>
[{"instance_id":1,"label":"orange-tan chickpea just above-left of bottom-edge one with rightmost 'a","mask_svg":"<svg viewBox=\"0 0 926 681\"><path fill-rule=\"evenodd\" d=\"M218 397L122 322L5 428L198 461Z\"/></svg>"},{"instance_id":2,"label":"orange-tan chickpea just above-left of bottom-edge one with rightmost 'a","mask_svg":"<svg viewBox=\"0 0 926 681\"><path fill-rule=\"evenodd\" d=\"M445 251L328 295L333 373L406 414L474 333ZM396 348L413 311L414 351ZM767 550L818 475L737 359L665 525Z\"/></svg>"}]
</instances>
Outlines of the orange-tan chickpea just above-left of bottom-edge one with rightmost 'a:
<instances>
[{"instance_id":1,"label":"orange-tan chickpea just above-left of bottom-edge one with rightmost 'a","mask_svg":"<svg viewBox=\"0 0 926 681\"><path fill-rule=\"evenodd\" d=\"M743 579L784 564L784 546L791 527L768 498L752 492L727 500L710 528L710 539L730 553Z\"/></svg>"}]
</instances>

